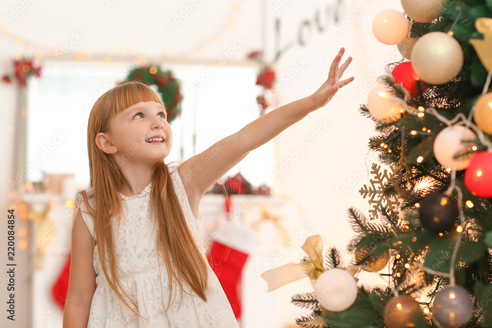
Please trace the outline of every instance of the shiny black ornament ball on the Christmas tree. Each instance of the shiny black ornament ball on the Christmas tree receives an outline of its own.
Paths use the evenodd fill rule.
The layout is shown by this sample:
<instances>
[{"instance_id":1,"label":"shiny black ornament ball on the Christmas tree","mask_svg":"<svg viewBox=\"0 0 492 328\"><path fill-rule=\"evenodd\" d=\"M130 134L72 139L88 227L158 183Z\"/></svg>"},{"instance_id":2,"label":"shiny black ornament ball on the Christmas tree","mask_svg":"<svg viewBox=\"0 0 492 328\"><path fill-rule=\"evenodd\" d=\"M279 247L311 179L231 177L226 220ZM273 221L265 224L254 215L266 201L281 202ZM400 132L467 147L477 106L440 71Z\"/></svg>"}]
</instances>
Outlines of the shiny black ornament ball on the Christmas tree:
<instances>
[{"instance_id":1,"label":"shiny black ornament ball on the Christmas tree","mask_svg":"<svg viewBox=\"0 0 492 328\"><path fill-rule=\"evenodd\" d=\"M422 199L419 207L422 226L433 233L453 230L460 217L458 204L443 192L434 192Z\"/></svg>"}]
</instances>

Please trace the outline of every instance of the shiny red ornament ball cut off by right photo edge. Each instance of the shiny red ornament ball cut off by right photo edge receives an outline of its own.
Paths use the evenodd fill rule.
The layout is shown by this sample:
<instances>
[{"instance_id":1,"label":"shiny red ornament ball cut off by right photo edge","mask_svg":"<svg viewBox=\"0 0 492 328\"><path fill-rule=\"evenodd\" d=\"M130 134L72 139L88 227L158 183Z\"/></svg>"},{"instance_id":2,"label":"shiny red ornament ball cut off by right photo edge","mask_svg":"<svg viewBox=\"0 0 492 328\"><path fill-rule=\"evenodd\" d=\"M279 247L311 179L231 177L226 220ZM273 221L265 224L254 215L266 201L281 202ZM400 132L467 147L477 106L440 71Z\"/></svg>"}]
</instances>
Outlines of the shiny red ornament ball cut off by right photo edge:
<instances>
[{"instance_id":1,"label":"shiny red ornament ball cut off by right photo edge","mask_svg":"<svg viewBox=\"0 0 492 328\"><path fill-rule=\"evenodd\" d=\"M492 198L492 152L481 151L464 171L464 184L472 194Z\"/></svg>"}]
</instances>

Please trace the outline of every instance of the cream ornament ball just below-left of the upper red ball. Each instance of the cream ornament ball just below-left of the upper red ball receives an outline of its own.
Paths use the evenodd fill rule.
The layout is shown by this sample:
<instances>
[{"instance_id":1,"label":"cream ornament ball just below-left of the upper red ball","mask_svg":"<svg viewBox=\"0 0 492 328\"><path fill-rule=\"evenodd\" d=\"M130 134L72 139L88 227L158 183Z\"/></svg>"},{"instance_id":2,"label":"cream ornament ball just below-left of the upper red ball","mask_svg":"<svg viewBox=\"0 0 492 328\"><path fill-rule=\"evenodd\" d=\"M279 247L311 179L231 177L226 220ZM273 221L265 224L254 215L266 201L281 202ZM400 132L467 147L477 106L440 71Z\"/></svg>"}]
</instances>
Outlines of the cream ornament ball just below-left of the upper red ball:
<instances>
[{"instance_id":1,"label":"cream ornament ball just below-left of the upper red ball","mask_svg":"<svg viewBox=\"0 0 492 328\"><path fill-rule=\"evenodd\" d=\"M369 113L383 122L393 122L400 119L403 106L392 100L390 88L383 84L378 84L369 91L368 109Z\"/></svg>"}]
</instances>

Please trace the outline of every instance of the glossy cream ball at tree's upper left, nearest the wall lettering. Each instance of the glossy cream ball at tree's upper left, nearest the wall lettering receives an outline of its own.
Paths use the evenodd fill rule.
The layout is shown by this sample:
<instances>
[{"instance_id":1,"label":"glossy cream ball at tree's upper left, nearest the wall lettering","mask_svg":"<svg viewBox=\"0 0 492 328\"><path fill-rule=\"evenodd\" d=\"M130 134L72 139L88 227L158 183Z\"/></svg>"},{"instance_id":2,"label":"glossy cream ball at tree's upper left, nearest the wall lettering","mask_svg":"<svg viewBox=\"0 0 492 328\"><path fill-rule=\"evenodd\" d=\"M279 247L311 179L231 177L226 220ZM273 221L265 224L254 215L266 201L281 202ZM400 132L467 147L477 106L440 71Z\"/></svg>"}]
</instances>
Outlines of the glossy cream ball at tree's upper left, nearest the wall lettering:
<instances>
[{"instance_id":1,"label":"glossy cream ball at tree's upper left, nearest the wall lettering","mask_svg":"<svg viewBox=\"0 0 492 328\"><path fill-rule=\"evenodd\" d=\"M410 22L396 9L380 11L372 21L372 32L384 44L394 45L403 41L410 28Z\"/></svg>"}]
</instances>

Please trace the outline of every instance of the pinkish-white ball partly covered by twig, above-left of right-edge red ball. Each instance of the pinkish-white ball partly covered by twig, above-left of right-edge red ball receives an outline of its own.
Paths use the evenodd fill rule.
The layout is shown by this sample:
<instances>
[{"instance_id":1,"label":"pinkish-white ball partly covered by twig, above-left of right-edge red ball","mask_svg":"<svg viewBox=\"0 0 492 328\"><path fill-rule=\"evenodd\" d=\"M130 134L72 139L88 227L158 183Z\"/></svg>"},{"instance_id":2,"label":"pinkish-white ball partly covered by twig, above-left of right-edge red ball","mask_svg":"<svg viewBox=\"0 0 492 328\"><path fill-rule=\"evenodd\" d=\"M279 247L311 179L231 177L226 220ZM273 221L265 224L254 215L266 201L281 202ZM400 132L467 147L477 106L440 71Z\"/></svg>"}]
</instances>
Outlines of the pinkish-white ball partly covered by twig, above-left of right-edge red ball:
<instances>
[{"instance_id":1,"label":"pinkish-white ball partly covered by twig, above-left of right-edge red ball","mask_svg":"<svg viewBox=\"0 0 492 328\"><path fill-rule=\"evenodd\" d=\"M466 149L462 140L475 139L476 134L469 128L463 125L453 125L444 128L437 134L434 140L434 156L435 159L447 168L453 168L456 165L456 171L464 170L470 164L473 155L468 157L460 157L455 160L453 157Z\"/></svg>"}]
</instances>

